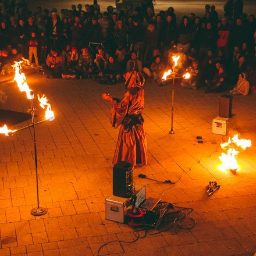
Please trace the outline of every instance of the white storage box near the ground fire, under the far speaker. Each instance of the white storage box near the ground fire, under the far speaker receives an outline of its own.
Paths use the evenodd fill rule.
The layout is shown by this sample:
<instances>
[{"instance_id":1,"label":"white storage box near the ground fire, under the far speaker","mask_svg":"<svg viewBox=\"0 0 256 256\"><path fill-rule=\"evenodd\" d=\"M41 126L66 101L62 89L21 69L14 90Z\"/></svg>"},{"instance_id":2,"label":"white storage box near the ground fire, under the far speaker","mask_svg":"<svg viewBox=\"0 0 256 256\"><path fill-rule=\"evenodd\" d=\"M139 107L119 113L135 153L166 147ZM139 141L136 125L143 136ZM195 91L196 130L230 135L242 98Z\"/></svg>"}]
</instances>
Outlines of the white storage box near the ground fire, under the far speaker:
<instances>
[{"instance_id":1,"label":"white storage box near the ground fire, under the far speaker","mask_svg":"<svg viewBox=\"0 0 256 256\"><path fill-rule=\"evenodd\" d=\"M212 133L226 135L230 129L236 128L236 116L232 118L220 118L217 116L212 120Z\"/></svg>"}]
</instances>

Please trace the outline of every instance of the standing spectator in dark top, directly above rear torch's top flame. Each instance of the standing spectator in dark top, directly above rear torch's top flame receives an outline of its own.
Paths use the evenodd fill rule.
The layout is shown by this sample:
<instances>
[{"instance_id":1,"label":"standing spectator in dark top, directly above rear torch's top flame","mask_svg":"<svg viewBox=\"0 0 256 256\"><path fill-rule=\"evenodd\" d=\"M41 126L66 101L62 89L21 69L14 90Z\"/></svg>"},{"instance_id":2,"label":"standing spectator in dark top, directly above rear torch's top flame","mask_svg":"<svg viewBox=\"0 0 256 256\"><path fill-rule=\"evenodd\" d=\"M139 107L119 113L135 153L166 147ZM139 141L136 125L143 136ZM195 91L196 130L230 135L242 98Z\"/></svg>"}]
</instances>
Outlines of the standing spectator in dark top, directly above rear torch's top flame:
<instances>
[{"instance_id":1,"label":"standing spectator in dark top, directly above rear torch's top flame","mask_svg":"<svg viewBox=\"0 0 256 256\"><path fill-rule=\"evenodd\" d=\"M178 52L187 52L190 48L190 42L193 39L193 30L189 24L189 17L183 16L182 24L179 28Z\"/></svg>"}]
</instances>

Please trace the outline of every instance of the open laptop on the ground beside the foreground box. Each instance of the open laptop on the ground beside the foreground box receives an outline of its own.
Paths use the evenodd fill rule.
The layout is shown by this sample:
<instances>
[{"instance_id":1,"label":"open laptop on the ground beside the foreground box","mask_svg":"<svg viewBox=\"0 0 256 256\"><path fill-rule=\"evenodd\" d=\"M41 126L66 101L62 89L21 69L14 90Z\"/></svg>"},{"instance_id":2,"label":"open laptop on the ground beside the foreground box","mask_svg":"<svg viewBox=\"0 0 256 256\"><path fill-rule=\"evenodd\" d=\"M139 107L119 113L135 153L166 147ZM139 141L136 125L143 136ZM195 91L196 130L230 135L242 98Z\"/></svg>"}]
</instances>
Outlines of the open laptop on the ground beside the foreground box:
<instances>
[{"instance_id":1,"label":"open laptop on the ground beside the foreground box","mask_svg":"<svg viewBox=\"0 0 256 256\"><path fill-rule=\"evenodd\" d=\"M137 193L136 193L136 204L135 206L140 209L145 209L147 211L152 211L159 201L161 200L161 196L157 199L155 198L146 198L146 188L143 186Z\"/></svg>"}]
</instances>

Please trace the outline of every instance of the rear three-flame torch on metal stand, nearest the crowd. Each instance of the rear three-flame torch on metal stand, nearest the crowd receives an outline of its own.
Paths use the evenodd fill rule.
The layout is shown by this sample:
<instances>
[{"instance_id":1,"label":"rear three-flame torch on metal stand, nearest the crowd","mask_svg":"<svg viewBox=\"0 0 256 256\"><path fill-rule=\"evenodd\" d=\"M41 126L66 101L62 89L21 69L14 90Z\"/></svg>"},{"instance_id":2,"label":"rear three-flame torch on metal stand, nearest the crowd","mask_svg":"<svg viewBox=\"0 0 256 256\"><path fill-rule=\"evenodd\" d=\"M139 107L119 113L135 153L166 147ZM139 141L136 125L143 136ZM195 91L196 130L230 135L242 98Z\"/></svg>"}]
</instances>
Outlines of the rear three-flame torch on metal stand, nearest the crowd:
<instances>
[{"instance_id":1,"label":"rear three-flame torch on metal stand, nearest the crowd","mask_svg":"<svg viewBox=\"0 0 256 256\"><path fill-rule=\"evenodd\" d=\"M171 122L169 134L175 134L175 131L173 131L174 80L178 79L178 78L183 78L183 79L189 79L190 78L190 73L186 73L183 76L176 76L175 67L178 65L179 59L180 59L180 56L173 55L172 56L173 69L169 69L162 76L162 81L172 79L172 122Z\"/></svg>"}]
</instances>

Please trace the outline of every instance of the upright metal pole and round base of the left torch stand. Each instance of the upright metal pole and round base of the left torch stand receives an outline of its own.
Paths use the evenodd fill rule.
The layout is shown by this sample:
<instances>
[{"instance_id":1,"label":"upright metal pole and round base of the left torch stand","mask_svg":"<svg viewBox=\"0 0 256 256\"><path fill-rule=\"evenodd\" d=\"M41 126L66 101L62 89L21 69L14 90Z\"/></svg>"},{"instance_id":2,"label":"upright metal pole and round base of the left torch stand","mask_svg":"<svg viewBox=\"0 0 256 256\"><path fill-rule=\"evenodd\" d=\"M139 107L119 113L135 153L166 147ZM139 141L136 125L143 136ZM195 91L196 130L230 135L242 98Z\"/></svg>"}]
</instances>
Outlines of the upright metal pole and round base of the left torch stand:
<instances>
[{"instance_id":1,"label":"upright metal pole and round base of the left torch stand","mask_svg":"<svg viewBox=\"0 0 256 256\"><path fill-rule=\"evenodd\" d=\"M35 140L35 108L34 108L34 97L30 99L31 109L29 112L31 113L32 119L32 127L33 127L33 139L34 139L34 159L35 159L35 178L37 182L37 207L31 209L31 214L34 216L41 216L47 213L47 209L39 206L39 191L38 191L38 172L37 172L37 141Z\"/></svg>"}]
</instances>

